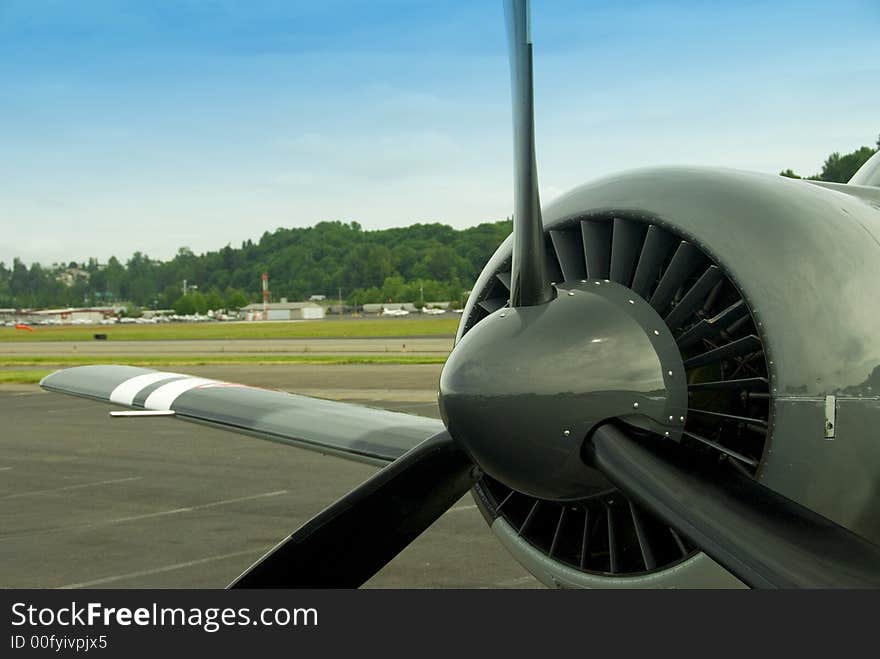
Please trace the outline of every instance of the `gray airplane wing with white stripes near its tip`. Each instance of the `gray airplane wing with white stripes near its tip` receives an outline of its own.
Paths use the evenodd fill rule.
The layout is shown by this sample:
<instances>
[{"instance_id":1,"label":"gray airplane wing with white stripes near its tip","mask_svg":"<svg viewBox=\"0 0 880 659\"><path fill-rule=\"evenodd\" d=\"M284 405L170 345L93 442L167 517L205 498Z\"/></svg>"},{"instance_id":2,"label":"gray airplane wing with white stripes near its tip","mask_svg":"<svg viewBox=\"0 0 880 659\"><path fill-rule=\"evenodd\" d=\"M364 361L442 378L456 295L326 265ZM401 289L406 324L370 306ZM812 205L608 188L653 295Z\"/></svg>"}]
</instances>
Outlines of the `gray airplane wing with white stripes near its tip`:
<instances>
[{"instance_id":1,"label":"gray airplane wing with white stripes near its tip","mask_svg":"<svg viewBox=\"0 0 880 659\"><path fill-rule=\"evenodd\" d=\"M40 386L380 466L445 430L439 419L133 366L77 366Z\"/></svg>"}]
</instances>

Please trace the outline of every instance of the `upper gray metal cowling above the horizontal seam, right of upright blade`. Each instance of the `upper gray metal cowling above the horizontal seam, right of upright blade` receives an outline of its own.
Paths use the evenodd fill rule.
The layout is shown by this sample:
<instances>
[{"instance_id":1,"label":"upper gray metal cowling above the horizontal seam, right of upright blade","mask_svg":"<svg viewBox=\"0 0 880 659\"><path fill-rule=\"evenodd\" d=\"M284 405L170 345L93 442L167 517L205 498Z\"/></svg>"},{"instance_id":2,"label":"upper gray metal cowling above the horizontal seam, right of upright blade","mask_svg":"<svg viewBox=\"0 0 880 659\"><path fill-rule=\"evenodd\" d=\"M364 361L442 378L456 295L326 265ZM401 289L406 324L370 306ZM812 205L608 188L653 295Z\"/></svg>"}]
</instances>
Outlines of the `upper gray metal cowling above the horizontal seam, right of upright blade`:
<instances>
[{"instance_id":1,"label":"upper gray metal cowling above the horizontal seam, right of upright blade","mask_svg":"<svg viewBox=\"0 0 880 659\"><path fill-rule=\"evenodd\" d=\"M724 267L762 328L775 393L842 393L880 365L880 212L868 204L780 176L669 168L577 188L546 224L617 208L655 216Z\"/></svg>"}]
</instances>

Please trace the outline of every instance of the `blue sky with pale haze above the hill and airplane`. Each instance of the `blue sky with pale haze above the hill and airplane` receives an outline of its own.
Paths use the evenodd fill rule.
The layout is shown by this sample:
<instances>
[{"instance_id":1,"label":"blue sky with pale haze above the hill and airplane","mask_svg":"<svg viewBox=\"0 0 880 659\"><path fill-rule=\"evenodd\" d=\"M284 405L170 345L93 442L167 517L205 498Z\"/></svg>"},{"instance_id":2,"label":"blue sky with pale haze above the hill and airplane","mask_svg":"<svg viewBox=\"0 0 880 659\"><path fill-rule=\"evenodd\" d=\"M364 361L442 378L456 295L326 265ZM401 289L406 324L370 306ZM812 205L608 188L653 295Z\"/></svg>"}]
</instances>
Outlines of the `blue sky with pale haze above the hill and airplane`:
<instances>
[{"instance_id":1,"label":"blue sky with pale haze above the hill and airplane","mask_svg":"<svg viewBox=\"0 0 880 659\"><path fill-rule=\"evenodd\" d=\"M880 1L533 0L543 199L880 132ZM511 208L500 0L0 0L0 261Z\"/></svg>"}]
</instances>

